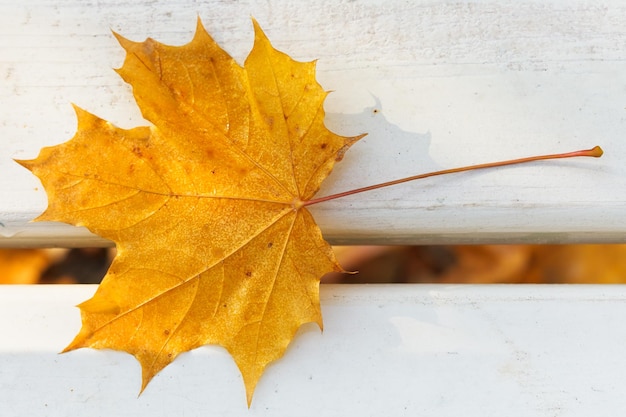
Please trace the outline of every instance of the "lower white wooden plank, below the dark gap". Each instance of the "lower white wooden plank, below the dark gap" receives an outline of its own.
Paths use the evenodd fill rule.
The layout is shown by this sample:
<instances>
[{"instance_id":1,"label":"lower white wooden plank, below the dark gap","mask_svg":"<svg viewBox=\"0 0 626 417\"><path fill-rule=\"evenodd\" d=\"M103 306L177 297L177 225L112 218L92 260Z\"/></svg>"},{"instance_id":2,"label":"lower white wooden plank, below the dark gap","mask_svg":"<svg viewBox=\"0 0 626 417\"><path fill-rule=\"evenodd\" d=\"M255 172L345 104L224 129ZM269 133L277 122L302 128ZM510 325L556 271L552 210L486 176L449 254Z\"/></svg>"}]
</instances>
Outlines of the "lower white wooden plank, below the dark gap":
<instances>
[{"instance_id":1,"label":"lower white wooden plank, below the dark gap","mask_svg":"<svg viewBox=\"0 0 626 417\"><path fill-rule=\"evenodd\" d=\"M615 416L626 410L624 286L322 286L247 410L221 349L182 355L137 397L127 354L59 355L93 286L0 287L7 416Z\"/></svg>"}]
</instances>

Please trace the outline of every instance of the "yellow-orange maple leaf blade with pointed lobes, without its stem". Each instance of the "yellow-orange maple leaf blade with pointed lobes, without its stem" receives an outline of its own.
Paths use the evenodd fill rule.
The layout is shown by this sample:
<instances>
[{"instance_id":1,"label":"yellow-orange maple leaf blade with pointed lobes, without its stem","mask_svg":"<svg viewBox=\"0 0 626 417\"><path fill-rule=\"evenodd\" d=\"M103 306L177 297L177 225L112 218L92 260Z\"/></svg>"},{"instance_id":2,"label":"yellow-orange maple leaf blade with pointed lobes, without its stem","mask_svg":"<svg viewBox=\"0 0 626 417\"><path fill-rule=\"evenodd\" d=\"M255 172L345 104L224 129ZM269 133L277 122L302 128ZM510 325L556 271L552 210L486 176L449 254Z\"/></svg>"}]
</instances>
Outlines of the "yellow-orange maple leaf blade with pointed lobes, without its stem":
<instances>
[{"instance_id":1,"label":"yellow-orange maple leaf blade with pointed lobes, without its stem","mask_svg":"<svg viewBox=\"0 0 626 417\"><path fill-rule=\"evenodd\" d=\"M117 246L65 351L131 353L142 390L181 352L218 344L250 404L296 330L322 327L319 280L341 270L304 202L361 136L326 129L315 63L275 50L253 25L243 67L200 20L180 47L116 34L127 53L117 71L153 125L125 130L76 108L70 141L18 161L48 194L37 220Z\"/></svg>"}]
</instances>

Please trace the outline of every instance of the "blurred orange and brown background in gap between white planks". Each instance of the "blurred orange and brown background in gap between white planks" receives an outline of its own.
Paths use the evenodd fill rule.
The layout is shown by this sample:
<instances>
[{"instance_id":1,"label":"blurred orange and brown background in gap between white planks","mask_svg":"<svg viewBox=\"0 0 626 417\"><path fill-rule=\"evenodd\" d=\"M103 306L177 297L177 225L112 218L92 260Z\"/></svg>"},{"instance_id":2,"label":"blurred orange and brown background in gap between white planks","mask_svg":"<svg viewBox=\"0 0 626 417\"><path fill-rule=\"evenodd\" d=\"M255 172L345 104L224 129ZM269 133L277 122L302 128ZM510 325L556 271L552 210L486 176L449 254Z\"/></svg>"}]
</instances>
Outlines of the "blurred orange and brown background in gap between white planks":
<instances>
[{"instance_id":1,"label":"blurred orange and brown background in gap between white planks","mask_svg":"<svg viewBox=\"0 0 626 417\"><path fill-rule=\"evenodd\" d=\"M626 245L336 246L326 283L626 282ZM115 250L0 249L0 284L95 284Z\"/></svg>"}]
</instances>

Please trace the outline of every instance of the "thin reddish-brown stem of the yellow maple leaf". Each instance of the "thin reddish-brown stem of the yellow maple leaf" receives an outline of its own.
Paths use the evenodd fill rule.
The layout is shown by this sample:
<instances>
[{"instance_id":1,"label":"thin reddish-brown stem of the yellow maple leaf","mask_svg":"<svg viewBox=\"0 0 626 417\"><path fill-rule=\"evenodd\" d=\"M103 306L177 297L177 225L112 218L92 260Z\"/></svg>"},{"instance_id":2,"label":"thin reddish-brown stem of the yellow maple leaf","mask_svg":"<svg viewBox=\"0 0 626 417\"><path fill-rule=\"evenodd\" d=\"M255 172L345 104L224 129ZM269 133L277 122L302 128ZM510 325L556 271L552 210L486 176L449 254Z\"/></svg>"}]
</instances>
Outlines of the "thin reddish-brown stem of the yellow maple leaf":
<instances>
[{"instance_id":1,"label":"thin reddish-brown stem of the yellow maple leaf","mask_svg":"<svg viewBox=\"0 0 626 417\"><path fill-rule=\"evenodd\" d=\"M325 197L314 198L312 200L303 201L301 203L301 205L302 206L312 206L313 204L323 203L325 201L330 201L330 200L336 200L338 198L347 197L347 196L353 195L353 194L363 193L365 191L377 190L379 188L390 187L392 185L402 184L404 182L420 180L420 179L428 178L428 177L434 177L434 176L437 176L437 175L453 174L455 172L472 171L472 170L475 170L475 169L501 167L501 166L505 166L505 165L517 165L517 164L523 164L523 163L526 163L526 162L540 161L540 160L544 160L544 159L574 158L574 157L577 157L577 156L589 156L589 157L599 158L600 156L602 156L602 154L603 154L602 148L600 148L599 146L595 146L595 147L593 147L591 149L585 149L585 150L574 151L574 152L557 153L557 154L551 154L551 155L530 156L530 157L527 157L527 158L511 159L511 160L508 160L508 161L490 162L490 163L486 163L486 164L470 165L470 166L460 167L460 168L444 169L444 170L441 170L441 171L428 172L426 174L419 174L419 175L414 175L412 177L401 178L401 179L398 179L398 180L393 180L393 181L383 182L383 183L380 183L380 184L370 185L368 187L356 188L354 190L344 191L342 193L337 193L337 194L331 194L331 195L327 195Z\"/></svg>"}]
</instances>

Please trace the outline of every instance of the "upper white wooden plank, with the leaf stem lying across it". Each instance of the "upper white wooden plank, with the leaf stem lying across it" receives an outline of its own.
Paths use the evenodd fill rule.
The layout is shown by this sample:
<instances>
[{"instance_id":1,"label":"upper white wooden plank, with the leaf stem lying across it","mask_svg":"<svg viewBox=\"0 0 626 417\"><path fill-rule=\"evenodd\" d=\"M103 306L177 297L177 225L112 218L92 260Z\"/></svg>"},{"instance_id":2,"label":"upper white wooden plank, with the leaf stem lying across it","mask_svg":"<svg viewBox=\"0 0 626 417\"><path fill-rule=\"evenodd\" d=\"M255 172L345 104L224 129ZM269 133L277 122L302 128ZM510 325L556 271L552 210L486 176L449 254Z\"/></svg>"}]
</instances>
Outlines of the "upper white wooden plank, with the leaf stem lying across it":
<instances>
[{"instance_id":1,"label":"upper white wooden plank, with the leaf stem lying across it","mask_svg":"<svg viewBox=\"0 0 626 417\"><path fill-rule=\"evenodd\" d=\"M12 158L68 140L70 102L144 123L112 70L134 40L190 40L195 20L240 62L254 16L318 58L327 124L369 132L320 195L437 168L599 144L600 160L405 184L314 207L333 243L621 241L626 236L626 4L621 0L196 2L0 0L0 246L101 245L29 224L46 206ZM376 111L375 111L376 110Z\"/></svg>"}]
</instances>

